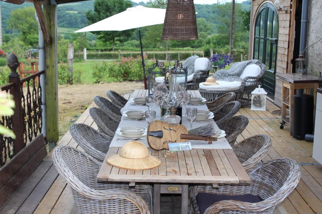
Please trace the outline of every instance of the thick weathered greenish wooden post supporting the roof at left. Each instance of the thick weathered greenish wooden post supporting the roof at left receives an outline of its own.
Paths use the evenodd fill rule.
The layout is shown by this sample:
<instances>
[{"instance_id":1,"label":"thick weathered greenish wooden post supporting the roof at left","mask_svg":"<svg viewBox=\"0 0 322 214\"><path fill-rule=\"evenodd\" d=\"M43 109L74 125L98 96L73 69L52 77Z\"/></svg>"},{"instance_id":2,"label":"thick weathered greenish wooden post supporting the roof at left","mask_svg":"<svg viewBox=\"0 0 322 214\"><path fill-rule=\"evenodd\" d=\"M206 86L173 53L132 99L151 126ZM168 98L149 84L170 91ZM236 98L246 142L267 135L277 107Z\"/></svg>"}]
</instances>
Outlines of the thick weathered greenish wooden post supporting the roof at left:
<instances>
[{"instance_id":1,"label":"thick weathered greenish wooden post supporting the roof at left","mask_svg":"<svg viewBox=\"0 0 322 214\"><path fill-rule=\"evenodd\" d=\"M57 65L57 5L43 5L50 36L45 44L46 140L51 151L58 141L58 65Z\"/></svg>"}]
</instances>

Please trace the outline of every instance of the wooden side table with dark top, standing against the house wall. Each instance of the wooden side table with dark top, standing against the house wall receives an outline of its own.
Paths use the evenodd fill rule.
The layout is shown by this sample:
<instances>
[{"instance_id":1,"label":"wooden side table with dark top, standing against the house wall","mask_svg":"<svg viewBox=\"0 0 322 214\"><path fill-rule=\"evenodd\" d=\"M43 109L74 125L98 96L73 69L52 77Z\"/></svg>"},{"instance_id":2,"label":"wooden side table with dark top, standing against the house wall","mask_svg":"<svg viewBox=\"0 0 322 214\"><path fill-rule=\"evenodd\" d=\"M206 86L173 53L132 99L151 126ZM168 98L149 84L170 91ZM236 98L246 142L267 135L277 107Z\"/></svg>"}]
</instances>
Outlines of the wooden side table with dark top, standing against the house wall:
<instances>
[{"instance_id":1,"label":"wooden side table with dark top, standing against the house wall","mask_svg":"<svg viewBox=\"0 0 322 214\"><path fill-rule=\"evenodd\" d=\"M307 92L309 89L313 89L314 92L314 106L317 101L317 88L319 87L317 82L317 76L314 75L300 75L297 73L283 73L276 74L276 77L282 81L282 125L289 124L289 134L293 135L293 96L296 89L304 89ZM289 89L289 93L286 92ZM289 99L287 99L289 97ZM286 108L289 108L289 117L286 117Z\"/></svg>"}]
</instances>

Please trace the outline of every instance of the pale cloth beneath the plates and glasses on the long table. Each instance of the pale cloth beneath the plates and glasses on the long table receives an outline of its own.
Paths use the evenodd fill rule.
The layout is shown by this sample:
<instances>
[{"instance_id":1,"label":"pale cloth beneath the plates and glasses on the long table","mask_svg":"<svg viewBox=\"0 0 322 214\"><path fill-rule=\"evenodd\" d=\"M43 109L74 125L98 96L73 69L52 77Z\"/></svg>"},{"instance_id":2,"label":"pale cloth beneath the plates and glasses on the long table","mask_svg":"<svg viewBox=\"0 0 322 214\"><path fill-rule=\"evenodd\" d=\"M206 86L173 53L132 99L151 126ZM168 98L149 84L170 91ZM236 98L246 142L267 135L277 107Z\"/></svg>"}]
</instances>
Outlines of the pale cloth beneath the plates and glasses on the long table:
<instances>
[{"instance_id":1,"label":"pale cloth beneath the plates and glasses on the long table","mask_svg":"<svg viewBox=\"0 0 322 214\"><path fill-rule=\"evenodd\" d=\"M130 98L127 102L127 104L121 109L121 113L127 110L145 110L148 111L147 106L142 105L130 105L131 100L133 98ZM208 111L208 107L206 105L188 105L188 107L195 107L198 108L198 110L206 110ZM151 108L152 111L156 111L156 120L160 119L161 111L160 107L157 105L153 105ZM185 114L185 106L182 108L183 115ZM118 128L127 127L127 126L136 126L136 127L145 127L147 128L148 123L145 121L145 119L142 120L124 120L127 117L122 116L121 122L118 125ZM213 120L208 120L206 122L196 122L194 121L192 128L197 128L206 124L212 123L214 124L215 128L218 128L217 124ZM190 122L188 118L183 117L182 124L187 127L187 129L190 129ZM118 138L124 138L117 134L115 134L113 140L111 141L110 147L121 147L128 141L131 141L131 139L128 140L117 140ZM147 147L149 147L147 143L147 137L142 137L142 139L139 140L140 142L144 143ZM189 140L191 142L191 147L193 149L232 149L232 147L229 145L228 141L225 137L218 138L217 141L213 141L212 144L208 144L207 141L196 141L196 140Z\"/></svg>"}]
</instances>

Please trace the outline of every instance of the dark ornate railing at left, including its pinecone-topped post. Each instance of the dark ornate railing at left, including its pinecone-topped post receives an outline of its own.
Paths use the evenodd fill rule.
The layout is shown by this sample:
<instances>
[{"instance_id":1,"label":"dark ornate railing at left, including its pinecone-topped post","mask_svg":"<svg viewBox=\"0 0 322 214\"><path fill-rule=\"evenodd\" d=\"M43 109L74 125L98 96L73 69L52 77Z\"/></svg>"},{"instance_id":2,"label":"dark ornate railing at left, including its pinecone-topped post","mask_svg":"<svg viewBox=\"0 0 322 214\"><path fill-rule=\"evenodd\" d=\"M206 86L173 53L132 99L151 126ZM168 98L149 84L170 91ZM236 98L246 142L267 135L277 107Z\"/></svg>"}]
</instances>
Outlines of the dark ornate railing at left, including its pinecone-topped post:
<instances>
[{"instance_id":1,"label":"dark ornate railing at left, including its pinecone-topped post","mask_svg":"<svg viewBox=\"0 0 322 214\"><path fill-rule=\"evenodd\" d=\"M18 58L11 54L8 57L9 84L0 86L14 97L14 115L2 116L0 124L13 130L16 139L0 134L0 167L14 157L42 131L42 88L40 76L44 71L31 74L23 79L17 73ZM25 85L25 87L23 87Z\"/></svg>"}]
</instances>

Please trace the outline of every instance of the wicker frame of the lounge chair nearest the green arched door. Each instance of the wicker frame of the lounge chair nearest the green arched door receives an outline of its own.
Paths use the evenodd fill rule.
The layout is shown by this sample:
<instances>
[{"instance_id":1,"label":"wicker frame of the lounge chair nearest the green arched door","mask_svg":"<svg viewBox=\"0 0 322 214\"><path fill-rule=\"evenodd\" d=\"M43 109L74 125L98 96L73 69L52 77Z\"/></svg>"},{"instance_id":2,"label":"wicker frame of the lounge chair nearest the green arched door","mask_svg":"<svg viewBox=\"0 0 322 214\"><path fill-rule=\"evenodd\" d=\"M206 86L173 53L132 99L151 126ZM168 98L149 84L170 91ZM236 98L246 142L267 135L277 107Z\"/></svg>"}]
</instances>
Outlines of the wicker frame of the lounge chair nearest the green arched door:
<instances>
[{"instance_id":1,"label":"wicker frame of the lounge chair nearest the green arched door","mask_svg":"<svg viewBox=\"0 0 322 214\"><path fill-rule=\"evenodd\" d=\"M249 105L251 104L251 92L257 87L257 83L261 81L261 78L263 77L265 71L266 71L266 65L260 64L260 74L257 77L245 77L242 80L242 84L239 88L239 90L235 91L211 91L211 90L202 90L198 89L201 93L201 96L206 98L208 101L215 100L216 98L222 96L223 94L226 94L228 92L234 92L236 93L236 100L241 102L241 104Z\"/></svg>"}]
</instances>

